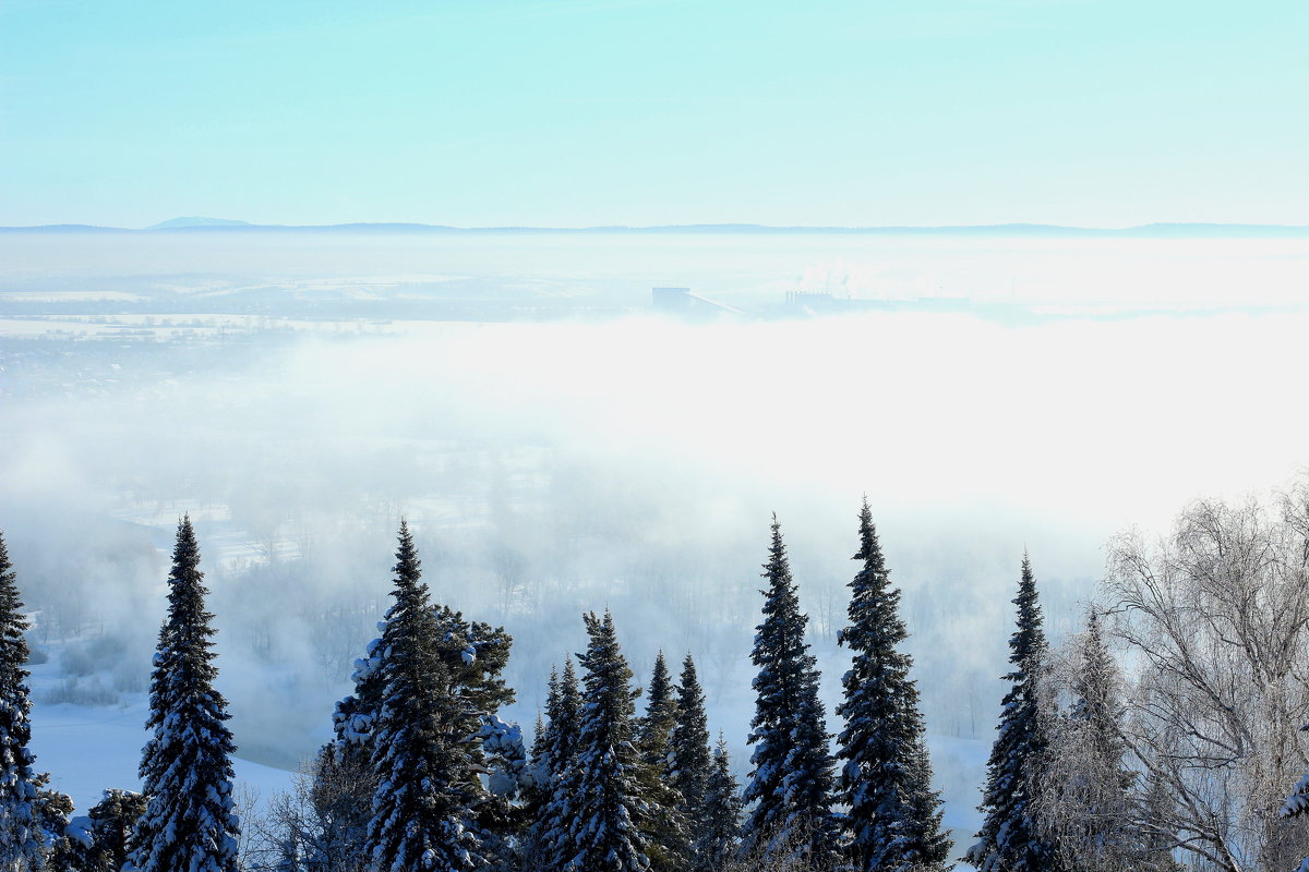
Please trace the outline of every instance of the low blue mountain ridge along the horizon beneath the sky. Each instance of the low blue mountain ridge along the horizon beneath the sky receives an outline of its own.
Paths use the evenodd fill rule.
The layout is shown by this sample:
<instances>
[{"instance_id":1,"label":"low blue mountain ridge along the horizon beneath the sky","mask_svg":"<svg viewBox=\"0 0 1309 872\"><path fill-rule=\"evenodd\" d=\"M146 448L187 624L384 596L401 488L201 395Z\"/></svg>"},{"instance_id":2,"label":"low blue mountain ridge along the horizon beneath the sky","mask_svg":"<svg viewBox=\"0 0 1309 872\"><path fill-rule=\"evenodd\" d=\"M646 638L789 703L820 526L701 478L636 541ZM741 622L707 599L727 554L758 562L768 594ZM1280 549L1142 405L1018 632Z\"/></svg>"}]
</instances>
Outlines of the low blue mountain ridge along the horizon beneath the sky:
<instances>
[{"instance_id":1,"label":"low blue mountain ridge along the horizon beneath the sky","mask_svg":"<svg viewBox=\"0 0 1309 872\"><path fill-rule=\"evenodd\" d=\"M149 227L106 227L85 224L51 224L0 227L0 233L586 233L586 234L791 234L791 235L958 235L958 237L1118 237L1118 238L1300 238L1309 237L1309 225L1284 224L1145 224L1134 227L1073 227L1054 224L977 224L941 226L771 226L762 224L677 224L657 226L597 227L456 227L441 224L351 222L351 224L250 224L233 218L181 217Z\"/></svg>"}]
</instances>

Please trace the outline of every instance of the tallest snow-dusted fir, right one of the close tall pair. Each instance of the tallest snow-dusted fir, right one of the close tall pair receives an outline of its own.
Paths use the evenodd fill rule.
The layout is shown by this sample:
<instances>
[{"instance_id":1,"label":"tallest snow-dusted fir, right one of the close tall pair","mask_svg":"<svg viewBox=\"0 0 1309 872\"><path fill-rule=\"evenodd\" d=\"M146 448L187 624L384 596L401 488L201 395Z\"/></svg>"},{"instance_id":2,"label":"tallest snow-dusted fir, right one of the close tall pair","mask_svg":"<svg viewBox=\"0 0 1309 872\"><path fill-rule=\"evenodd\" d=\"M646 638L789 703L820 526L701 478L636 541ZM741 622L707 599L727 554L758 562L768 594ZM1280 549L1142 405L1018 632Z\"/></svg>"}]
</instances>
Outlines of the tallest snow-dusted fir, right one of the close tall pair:
<instances>
[{"instance_id":1,"label":"tallest snow-dusted fir, right one of the close tall pair","mask_svg":"<svg viewBox=\"0 0 1309 872\"><path fill-rule=\"evenodd\" d=\"M836 707L846 718L836 757L846 761L840 791L850 807L850 860L859 872L944 869L952 843L932 790L918 685L908 677L912 659L899 650L908 638L901 592L890 583L867 499L853 560L863 566L850 583L850 625L836 637L853 654Z\"/></svg>"}]
</instances>

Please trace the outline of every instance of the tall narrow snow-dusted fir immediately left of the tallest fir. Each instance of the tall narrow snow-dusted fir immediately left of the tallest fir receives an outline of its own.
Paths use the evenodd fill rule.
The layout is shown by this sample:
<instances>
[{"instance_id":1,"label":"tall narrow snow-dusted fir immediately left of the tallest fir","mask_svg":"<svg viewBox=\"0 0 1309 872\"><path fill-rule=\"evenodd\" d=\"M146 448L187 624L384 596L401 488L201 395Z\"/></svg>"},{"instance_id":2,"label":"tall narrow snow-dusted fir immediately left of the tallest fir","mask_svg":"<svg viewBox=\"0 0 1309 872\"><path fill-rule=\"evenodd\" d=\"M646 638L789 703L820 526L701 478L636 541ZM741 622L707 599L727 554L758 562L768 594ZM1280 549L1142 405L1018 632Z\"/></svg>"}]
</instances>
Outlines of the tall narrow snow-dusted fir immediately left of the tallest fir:
<instances>
[{"instance_id":1,"label":"tall narrow snow-dusted fir immediately left of the tallest fir","mask_svg":"<svg viewBox=\"0 0 1309 872\"><path fill-rule=\"evenodd\" d=\"M800 611L776 515L763 570L768 579L763 622L750 655L759 668L749 737L754 770L744 795L754 808L745 822L742 852L757 860L802 859L822 867L836 860L840 842L831 808L830 736L818 699L817 659L805 642L809 618Z\"/></svg>"}]
</instances>

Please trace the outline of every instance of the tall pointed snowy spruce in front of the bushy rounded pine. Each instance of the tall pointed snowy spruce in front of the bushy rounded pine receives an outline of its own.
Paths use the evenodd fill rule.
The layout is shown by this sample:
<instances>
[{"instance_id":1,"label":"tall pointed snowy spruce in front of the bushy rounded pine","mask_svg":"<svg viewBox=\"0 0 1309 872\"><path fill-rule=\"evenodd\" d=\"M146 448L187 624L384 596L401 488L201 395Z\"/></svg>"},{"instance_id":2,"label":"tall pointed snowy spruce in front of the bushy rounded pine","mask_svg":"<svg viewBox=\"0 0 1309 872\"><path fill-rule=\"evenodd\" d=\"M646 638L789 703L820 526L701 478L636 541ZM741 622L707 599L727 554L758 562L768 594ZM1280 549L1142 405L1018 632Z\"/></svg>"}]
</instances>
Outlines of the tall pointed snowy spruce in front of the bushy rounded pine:
<instances>
[{"instance_id":1,"label":"tall pointed snowy spruce in front of the bushy rounded pine","mask_svg":"<svg viewBox=\"0 0 1309 872\"><path fill-rule=\"evenodd\" d=\"M374 872L454 872L483 863L465 792L463 713L437 651L440 624L408 526L395 552L395 603L382 631L382 703L372 722L377 775L365 855Z\"/></svg>"}]
</instances>

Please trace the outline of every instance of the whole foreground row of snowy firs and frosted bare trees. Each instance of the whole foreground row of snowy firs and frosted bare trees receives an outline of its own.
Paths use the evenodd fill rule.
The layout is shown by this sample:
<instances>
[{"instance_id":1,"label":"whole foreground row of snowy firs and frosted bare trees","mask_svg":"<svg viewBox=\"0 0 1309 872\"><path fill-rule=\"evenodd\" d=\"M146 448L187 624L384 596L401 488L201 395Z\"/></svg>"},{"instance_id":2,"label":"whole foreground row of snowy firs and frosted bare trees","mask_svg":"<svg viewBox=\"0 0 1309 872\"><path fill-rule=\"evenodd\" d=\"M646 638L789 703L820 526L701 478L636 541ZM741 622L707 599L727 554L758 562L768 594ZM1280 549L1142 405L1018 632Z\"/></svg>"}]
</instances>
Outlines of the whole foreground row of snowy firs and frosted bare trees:
<instances>
[{"instance_id":1,"label":"whole foreground row of snowy firs and frosted bare trees","mask_svg":"<svg viewBox=\"0 0 1309 872\"><path fill-rule=\"evenodd\" d=\"M1085 631L1054 650L1024 556L1009 689L969 863L987 872L1293 868L1279 863L1299 862L1305 834L1264 796L1305 762L1284 735L1304 694L1289 643L1309 625L1309 490L1282 494L1279 509L1274 518L1257 503L1195 503L1157 549L1121 537L1106 580L1118 599L1089 609ZM838 637L852 663L835 735L774 518L744 787L721 736L711 741L692 655L674 681L661 652L645 690L635 689L607 612L583 616L586 650L551 669L526 746L497 714L514 698L501 677L509 634L432 601L403 522L395 557L393 604L356 663L353 693L336 705L332 741L291 794L246 824L242 843L236 748L213 686L213 616L190 518L178 524L151 675L141 791L107 790L72 821L72 803L48 788L27 749L29 621L0 539L0 863L80 872L950 868L902 651L901 594L867 501ZM1245 715L1224 714L1238 707ZM1270 758L1270 749L1282 753ZM1282 817L1309 809L1306 797L1309 777Z\"/></svg>"}]
</instances>

